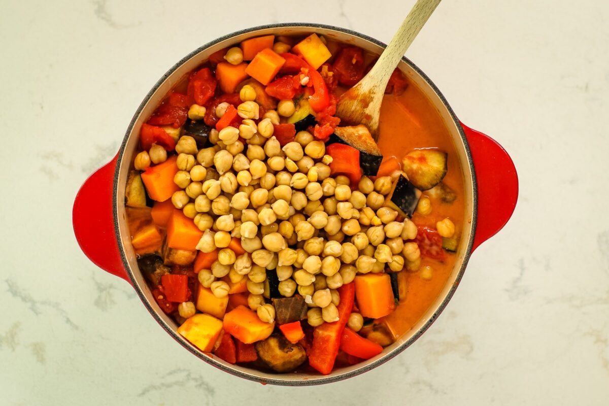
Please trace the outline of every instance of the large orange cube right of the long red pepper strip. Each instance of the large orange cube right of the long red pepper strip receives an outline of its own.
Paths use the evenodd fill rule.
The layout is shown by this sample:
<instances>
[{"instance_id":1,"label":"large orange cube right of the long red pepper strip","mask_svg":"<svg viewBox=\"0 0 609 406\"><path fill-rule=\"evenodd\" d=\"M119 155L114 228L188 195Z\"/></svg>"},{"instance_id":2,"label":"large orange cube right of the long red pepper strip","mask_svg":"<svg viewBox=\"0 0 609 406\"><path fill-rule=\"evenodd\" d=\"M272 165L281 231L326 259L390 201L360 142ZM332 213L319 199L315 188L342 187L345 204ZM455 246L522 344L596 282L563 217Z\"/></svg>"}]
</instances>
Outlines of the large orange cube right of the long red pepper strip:
<instances>
[{"instance_id":1,"label":"large orange cube right of the long red pepper strip","mask_svg":"<svg viewBox=\"0 0 609 406\"><path fill-rule=\"evenodd\" d=\"M364 317L379 318L395 309L391 278L387 273L367 273L355 277L357 308Z\"/></svg>"}]
</instances>

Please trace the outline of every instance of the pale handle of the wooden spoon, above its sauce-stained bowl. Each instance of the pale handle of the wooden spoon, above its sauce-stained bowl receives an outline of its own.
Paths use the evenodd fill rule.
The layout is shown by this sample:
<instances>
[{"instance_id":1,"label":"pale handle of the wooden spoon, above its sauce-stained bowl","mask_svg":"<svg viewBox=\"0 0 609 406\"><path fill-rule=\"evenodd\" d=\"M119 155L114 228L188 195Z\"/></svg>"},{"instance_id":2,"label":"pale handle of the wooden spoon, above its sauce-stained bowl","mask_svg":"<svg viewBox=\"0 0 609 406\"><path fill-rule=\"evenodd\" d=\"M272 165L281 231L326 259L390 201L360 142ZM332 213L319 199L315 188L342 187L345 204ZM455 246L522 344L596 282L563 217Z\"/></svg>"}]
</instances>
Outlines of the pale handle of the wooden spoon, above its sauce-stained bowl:
<instances>
[{"instance_id":1,"label":"pale handle of the wooden spoon, above its sauce-stained bowl","mask_svg":"<svg viewBox=\"0 0 609 406\"><path fill-rule=\"evenodd\" d=\"M378 88L385 89L393 69L398 66L400 59L404 56L415 37L417 37L417 34L427 22L431 13L438 7L440 1L442 0L417 0L412 7L412 10L410 10L410 13L404 19L398 32L393 36L387 49L385 49L367 75L367 77L376 82Z\"/></svg>"}]
</instances>

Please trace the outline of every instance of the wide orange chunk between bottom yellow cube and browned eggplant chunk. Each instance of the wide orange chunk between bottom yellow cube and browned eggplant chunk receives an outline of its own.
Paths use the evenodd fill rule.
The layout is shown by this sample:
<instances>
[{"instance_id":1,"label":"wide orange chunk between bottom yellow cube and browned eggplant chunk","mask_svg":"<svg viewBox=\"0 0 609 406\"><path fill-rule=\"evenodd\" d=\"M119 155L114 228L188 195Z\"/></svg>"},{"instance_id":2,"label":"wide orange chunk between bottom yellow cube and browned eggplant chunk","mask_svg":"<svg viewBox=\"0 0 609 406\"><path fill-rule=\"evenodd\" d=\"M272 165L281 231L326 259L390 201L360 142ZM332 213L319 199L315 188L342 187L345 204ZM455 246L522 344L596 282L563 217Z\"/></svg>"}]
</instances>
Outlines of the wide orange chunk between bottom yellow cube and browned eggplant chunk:
<instances>
[{"instance_id":1,"label":"wide orange chunk between bottom yellow cube and browned eggplant chunk","mask_svg":"<svg viewBox=\"0 0 609 406\"><path fill-rule=\"evenodd\" d=\"M264 340L274 328L275 323L265 323L245 306L238 306L224 315L224 331L245 344Z\"/></svg>"}]
</instances>

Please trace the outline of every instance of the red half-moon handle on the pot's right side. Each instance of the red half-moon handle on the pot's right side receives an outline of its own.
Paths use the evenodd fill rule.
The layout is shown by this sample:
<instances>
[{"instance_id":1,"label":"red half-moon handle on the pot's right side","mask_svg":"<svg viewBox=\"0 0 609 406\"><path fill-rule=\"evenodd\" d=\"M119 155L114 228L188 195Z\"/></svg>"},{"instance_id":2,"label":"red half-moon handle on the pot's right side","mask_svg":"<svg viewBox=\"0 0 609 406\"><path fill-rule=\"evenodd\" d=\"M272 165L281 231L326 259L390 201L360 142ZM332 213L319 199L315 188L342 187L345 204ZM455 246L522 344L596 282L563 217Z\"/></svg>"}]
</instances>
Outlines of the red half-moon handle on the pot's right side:
<instances>
[{"instance_id":1,"label":"red half-moon handle on the pot's right side","mask_svg":"<svg viewBox=\"0 0 609 406\"><path fill-rule=\"evenodd\" d=\"M476 171L478 211L473 252L512 217L518 200L518 174L512 158L494 139L461 123Z\"/></svg>"}]
</instances>

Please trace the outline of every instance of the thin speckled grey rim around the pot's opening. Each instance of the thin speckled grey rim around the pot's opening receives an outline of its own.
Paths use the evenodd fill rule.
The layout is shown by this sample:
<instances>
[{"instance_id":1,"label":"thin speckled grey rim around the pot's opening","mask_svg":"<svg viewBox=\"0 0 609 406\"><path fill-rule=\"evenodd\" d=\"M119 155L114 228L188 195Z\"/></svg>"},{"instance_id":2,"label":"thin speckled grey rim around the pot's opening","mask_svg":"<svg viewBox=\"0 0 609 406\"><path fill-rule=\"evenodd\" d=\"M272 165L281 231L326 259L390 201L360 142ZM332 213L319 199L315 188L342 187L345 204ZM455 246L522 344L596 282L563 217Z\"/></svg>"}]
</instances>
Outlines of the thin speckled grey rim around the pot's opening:
<instances>
[{"instance_id":1,"label":"thin speckled grey rim around the pot's opening","mask_svg":"<svg viewBox=\"0 0 609 406\"><path fill-rule=\"evenodd\" d=\"M459 285L461 278L463 277L463 273L465 272L466 265L470 259L471 248L473 246L474 236L476 235L476 222L477 222L476 173L474 171L474 164L473 164L473 160L471 158L470 147L469 147L468 141L465 137L465 133L463 132L463 128L460 125L459 119L457 119L456 115L452 111L452 108L449 106L448 102L446 102L445 97L442 95L442 93L440 93L439 89L434 85L434 83L429 79L429 77L427 75L425 75L423 73L423 71L421 71L419 68L417 68L417 66L415 66L414 63L412 63L412 61L410 61L406 57L403 57L402 60L407 65L409 65L410 68L412 68L415 72L417 72L418 75L420 75L423 78L423 80L428 84L428 86L432 89L432 91L434 91L434 93L437 95L437 97L441 100L442 104L446 108L446 111L448 112L449 116L452 118L452 121L456 125L457 130L459 131L460 138L463 142L463 146L465 147L465 155L466 155L468 163L471 167L471 171L470 171L471 180L470 181L471 181L471 187L472 187L472 209L473 210L472 210L472 217L471 217L470 238L468 239L466 251L463 254L463 258L461 260L461 266L459 268L459 271L456 275L454 282L452 283L451 288L449 289L448 293L446 293L446 296L443 298L442 303L440 303L438 305L437 310L433 313L433 315L431 317L429 317L429 319L426 321L426 323L412 337L410 337L409 340L404 341L404 343L402 343L400 346L392 349L392 351L387 352L387 354L382 355L382 357L380 357L379 359L373 360L372 362L362 363L363 365L360 366L359 368L353 369L351 371L347 371L345 373L335 374L335 375L331 375L331 376L320 375L319 377L315 376L315 377L311 377L309 379L294 380L294 379L286 379L287 377L289 377L289 374L274 374L274 376L276 376L276 377L268 377L268 376L262 377L259 374L256 374L256 371L254 369L249 369L250 371L252 371L252 373L249 373L249 372L241 371L240 369L231 368L227 364L219 362L216 359L213 359L212 357L209 357L209 356L203 354L203 352L196 349L185 338L183 338L181 335L179 335L171 326L169 326L169 324L167 324L166 321L164 321L160 317L160 315L158 315L157 310L153 309L152 305L150 304L149 299L146 297L144 292L141 289L139 289L139 287L138 287L135 276L133 274L133 270L128 263L127 256L125 254L125 249L124 249L124 246L122 245L121 235L119 233L119 213L118 213L119 205L118 205L118 199L117 199L119 170L121 168L122 159L124 157L125 146L127 145L127 141L130 138L132 128L135 125L136 121L138 120L139 114L144 109L144 107L147 105L150 98L155 93L155 91L159 88L159 86L171 74L173 74L178 67L183 65L186 61L190 60L195 55L199 54L199 52L201 52L201 51L205 50L206 48L211 47L217 43L220 43L221 41L228 40L232 37L236 37L237 35L253 33L255 31L264 30L264 29L281 29L281 28L298 28L298 27L333 30L336 32L352 35L353 37L357 37L357 38L360 38L365 41L369 41L370 43L376 44L383 48L386 47L386 45L384 43L382 43L381 41L375 40L374 38L368 37L367 35L364 35L359 32L355 32L353 30L344 29L344 28L340 28L340 27L334 27L334 26L328 26L325 24L310 24L310 23L282 23L282 24L269 24L269 25L264 25L264 26L257 26L257 27L252 27L249 29L244 29L244 30L240 30L237 32L233 32L233 33L224 35L223 37L217 38L216 40L210 41L209 43L206 43L205 45L199 47L195 51L192 51L190 54L186 55L184 58L182 58L180 61L178 61L174 66L172 66L172 68L169 69L169 71L167 71L158 80L157 83L155 83L155 85L152 87L152 89L150 89L149 93L146 95L146 97L144 97L144 100L141 102L138 109L135 111L132 121L130 122L129 126L127 127L127 131L125 132L125 136L124 136L123 142L121 144L121 149L119 150L119 153L118 153L116 170L114 172L113 197L112 197L112 202L111 202L112 211L113 211L113 220L114 220L114 233L116 235L116 240L118 242L119 251L121 253L122 264L124 265L124 268L127 271L127 274L132 282L133 287L135 288L136 292L138 293L139 298L144 303L144 306L146 306L146 309L150 312L150 314L157 321L157 323L163 327L163 329L167 332L167 334L171 335L171 337L173 337L176 341L178 341L178 343L180 343L181 346L188 349L189 352L196 355L200 359L204 360L206 363L209 363L210 365L213 365L216 368L222 369L222 371L226 371L230 374L233 374L234 376L242 377L242 378L248 379L248 380L253 380L255 382L270 383L272 385L283 385L283 386L320 385L323 383L337 382L339 380L357 376L359 374L370 371L370 369L376 368L377 366L381 365L382 363L389 361L396 355L400 354L400 352L404 351L404 349L406 349L407 347L412 345L412 343L414 343L414 341L416 341L421 336L421 334L423 334L429 328L429 326L431 326L431 324L437 319L437 317L440 315L440 313L442 313L442 311L445 309L446 304L448 304L449 300L452 298L452 295L454 295L454 292L457 289L457 286Z\"/></svg>"}]
</instances>

